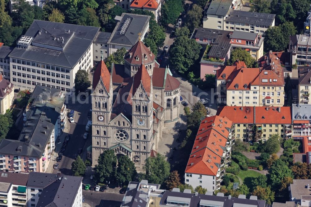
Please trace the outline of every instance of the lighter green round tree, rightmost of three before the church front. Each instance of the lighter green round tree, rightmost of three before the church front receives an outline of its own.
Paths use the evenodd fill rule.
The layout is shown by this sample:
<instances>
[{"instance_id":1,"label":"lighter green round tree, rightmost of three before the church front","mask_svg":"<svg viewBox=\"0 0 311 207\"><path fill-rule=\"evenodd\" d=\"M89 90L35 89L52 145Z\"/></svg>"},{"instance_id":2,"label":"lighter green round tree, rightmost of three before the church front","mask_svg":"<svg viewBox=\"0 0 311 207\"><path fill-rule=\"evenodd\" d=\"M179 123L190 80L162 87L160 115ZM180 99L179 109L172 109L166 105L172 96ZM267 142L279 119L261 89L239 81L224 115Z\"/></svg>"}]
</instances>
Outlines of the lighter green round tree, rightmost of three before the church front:
<instances>
[{"instance_id":1,"label":"lighter green round tree, rightmost of three before the church front","mask_svg":"<svg viewBox=\"0 0 311 207\"><path fill-rule=\"evenodd\" d=\"M156 157L148 157L144 169L148 182L155 184L162 184L169 176L170 165L165 160L162 154L157 154Z\"/></svg>"}]
</instances>

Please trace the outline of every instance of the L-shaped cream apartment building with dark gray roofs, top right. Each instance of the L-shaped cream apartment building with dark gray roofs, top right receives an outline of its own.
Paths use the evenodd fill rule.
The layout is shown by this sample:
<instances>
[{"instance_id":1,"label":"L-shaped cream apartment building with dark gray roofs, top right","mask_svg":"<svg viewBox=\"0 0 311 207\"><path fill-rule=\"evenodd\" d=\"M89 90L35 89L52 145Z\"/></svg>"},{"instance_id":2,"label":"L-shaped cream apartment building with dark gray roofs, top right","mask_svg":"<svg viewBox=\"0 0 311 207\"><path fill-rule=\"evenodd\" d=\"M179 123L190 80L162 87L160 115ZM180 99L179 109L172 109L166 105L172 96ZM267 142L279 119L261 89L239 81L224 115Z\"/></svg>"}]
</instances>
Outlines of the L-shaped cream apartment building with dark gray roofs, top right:
<instances>
[{"instance_id":1,"label":"L-shaped cream apartment building with dark gray roofs, top right","mask_svg":"<svg viewBox=\"0 0 311 207\"><path fill-rule=\"evenodd\" d=\"M240 11L239 0L213 0L203 16L203 28L263 34L275 24L275 14Z\"/></svg>"}]
</instances>

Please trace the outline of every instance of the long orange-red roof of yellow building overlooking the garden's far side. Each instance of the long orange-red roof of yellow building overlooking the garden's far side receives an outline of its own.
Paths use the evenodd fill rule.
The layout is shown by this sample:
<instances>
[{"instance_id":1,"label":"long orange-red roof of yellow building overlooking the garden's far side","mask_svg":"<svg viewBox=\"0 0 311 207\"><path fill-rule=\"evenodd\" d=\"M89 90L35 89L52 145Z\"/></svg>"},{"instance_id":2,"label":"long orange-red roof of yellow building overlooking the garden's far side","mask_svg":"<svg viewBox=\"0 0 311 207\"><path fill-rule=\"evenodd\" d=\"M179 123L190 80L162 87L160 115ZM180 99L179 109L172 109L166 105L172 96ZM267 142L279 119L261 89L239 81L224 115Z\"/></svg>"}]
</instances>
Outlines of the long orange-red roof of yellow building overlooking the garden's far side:
<instances>
[{"instance_id":1,"label":"long orange-red roof of yellow building overlooking the garden's far side","mask_svg":"<svg viewBox=\"0 0 311 207\"><path fill-rule=\"evenodd\" d=\"M241 124L291 124L290 107L224 106L218 108L216 115Z\"/></svg>"}]
</instances>

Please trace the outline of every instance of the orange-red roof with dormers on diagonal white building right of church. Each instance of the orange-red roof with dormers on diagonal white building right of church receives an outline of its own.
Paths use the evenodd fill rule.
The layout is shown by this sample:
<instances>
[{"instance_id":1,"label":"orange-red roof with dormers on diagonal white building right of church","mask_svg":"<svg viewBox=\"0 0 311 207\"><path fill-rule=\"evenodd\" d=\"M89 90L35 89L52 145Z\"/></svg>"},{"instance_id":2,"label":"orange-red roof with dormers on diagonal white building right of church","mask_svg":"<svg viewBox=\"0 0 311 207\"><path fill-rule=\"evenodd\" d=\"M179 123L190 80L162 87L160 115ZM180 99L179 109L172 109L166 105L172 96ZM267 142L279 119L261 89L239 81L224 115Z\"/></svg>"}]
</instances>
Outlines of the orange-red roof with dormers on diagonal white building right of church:
<instances>
[{"instance_id":1,"label":"orange-red roof with dormers on diagonal white building right of church","mask_svg":"<svg viewBox=\"0 0 311 207\"><path fill-rule=\"evenodd\" d=\"M185 173L216 176L232 122L212 116L202 120Z\"/></svg>"}]
</instances>

